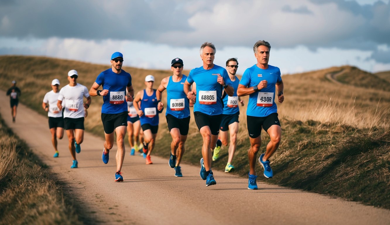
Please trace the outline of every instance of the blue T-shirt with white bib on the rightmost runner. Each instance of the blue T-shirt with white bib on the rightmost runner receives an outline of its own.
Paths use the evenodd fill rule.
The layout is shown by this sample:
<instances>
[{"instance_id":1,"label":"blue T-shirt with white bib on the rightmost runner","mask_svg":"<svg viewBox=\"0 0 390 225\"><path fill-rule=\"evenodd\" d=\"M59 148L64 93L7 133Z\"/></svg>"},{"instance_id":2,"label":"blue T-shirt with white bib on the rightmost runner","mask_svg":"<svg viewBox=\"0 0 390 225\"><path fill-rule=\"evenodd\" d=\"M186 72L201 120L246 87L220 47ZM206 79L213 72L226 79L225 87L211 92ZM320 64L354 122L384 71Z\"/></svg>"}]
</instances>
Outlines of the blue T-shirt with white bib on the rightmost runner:
<instances>
[{"instance_id":1,"label":"blue T-shirt with white bib on the rightmost runner","mask_svg":"<svg viewBox=\"0 0 390 225\"><path fill-rule=\"evenodd\" d=\"M275 84L282 81L280 69L268 65L266 70L260 69L256 64L245 70L239 84L245 87L253 87L262 80L267 80L267 87L249 95L246 115L264 117L277 112L275 104Z\"/></svg>"}]
</instances>

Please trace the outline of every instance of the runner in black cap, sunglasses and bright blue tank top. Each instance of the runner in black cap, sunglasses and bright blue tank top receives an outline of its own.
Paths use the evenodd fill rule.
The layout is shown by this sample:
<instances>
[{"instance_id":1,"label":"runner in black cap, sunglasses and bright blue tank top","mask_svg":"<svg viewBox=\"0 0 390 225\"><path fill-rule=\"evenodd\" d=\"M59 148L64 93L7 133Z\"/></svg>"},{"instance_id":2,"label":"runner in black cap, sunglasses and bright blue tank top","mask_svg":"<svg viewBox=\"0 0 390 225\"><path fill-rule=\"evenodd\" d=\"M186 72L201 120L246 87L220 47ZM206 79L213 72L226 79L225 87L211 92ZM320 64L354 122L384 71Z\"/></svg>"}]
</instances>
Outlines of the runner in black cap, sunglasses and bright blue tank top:
<instances>
[{"instance_id":1,"label":"runner in black cap, sunglasses and bright blue tank top","mask_svg":"<svg viewBox=\"0 0 390 225\"><path fill-rule=\"evenodd\" d=\"M190 101L183 90L184 82L187 79L187 76L182 74L183 66L183 60L179 58L173 59L171 62L173 75L161 80L160 87L158 87L156 92L158 99L157 109L161 111L164 106L163 102L161 102L161 93L167 89L167 111L165 112L165 117L167 118L168 129L172 136L171 154L168 164L175 169L175 177L183 177L180 161L185 151L184 144L190 124Z\"/></svg>"}]
</instances>

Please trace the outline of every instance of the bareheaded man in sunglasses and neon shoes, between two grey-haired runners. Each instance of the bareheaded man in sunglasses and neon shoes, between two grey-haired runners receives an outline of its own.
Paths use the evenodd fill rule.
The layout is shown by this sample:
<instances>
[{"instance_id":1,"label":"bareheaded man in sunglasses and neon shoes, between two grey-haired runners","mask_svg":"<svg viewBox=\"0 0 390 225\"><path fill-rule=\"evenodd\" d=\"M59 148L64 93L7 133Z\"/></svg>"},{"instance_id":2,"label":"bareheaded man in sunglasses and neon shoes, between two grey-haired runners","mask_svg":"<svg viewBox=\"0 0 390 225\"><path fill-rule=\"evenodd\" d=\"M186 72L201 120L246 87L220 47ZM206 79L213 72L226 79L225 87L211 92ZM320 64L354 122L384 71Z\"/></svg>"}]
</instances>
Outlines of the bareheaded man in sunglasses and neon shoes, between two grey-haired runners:
<instances>
[{"instance_id":1,"label":"bareheaded man in sunglasses and neon shoes, between two grey-haired runners","mask_svg":"<svg viewBox=\"0 0 390 225\"><path fill-rule=\"evenodd\" d=\"M240 80L236 77L236 72L238 68L238 61L236 58L231 58L226 61L226 70L229 75L229 79L234 88L233 96L223 95L223 113L222 120L220 125L219 138L217 141L216 147L214 148L213 153L213 161L216 161L219 157L219 153L221 150L221 145L227 146L228 144L228 134L230 133L230 145L229 145L229 157L227 159L227 164L225 166L225 172L233 172L234 166L232 165L234 152L236 151L236 140L238 133L238 116L240 114L240 110L238 108L238 103L244 105L244 101L237 96L237 88Z\"/></svg>"}]
</instances>

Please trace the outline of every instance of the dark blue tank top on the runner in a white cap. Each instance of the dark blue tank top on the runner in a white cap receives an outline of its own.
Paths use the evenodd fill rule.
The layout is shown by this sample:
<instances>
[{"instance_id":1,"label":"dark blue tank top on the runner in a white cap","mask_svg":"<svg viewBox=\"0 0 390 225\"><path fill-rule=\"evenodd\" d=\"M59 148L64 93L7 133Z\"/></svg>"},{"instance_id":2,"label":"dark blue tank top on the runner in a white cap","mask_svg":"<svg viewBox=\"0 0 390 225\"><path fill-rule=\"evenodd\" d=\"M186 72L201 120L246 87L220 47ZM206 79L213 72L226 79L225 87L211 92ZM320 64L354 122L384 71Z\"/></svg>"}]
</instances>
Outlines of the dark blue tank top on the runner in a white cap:
<instances>
[{"instance_id":1,"label":"dark blue tank top on the runner in a white cap","mask_svg":"<svg viewBox=\"0 0 390 225\"><path fill-rule=\"evenodd\" d=\"M140 117L141 125L144 125L145 123L149 123L152 126L158 125L157 105L156 89L153 89L152 96L148 96L144 89L144 96L141 100L141 110L144 112Z\"/></svg>"}]
</instances>

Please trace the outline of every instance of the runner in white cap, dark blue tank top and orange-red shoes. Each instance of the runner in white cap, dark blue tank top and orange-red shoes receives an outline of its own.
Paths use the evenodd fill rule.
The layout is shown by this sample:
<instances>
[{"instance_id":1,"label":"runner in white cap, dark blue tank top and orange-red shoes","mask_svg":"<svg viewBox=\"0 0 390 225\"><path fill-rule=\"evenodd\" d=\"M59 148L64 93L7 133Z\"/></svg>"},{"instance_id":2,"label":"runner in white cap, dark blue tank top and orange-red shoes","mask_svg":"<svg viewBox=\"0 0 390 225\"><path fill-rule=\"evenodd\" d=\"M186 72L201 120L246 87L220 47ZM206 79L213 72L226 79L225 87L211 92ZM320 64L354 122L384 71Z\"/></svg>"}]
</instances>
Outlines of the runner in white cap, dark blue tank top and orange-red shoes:
<instances>
[{"instance_id":1,"label":"runner in white cap, dark blue tank top and orange-red shoes","mask_svg":"<svg viewBox=\"0 0 390 225\"><path fill-rule=\"evenodd\" d=\"M134 98L134 107L140 116L141 127L144 131L144 157L146 158L146 164L153 164L150 159L150 154L153 151L157 131L158 131L158 113L157 110L157 98L156 89L153 89L154 77L147 75L145 77L146 88L142 91L138 91ZM139 103L141 107L139 107ZM150 144L150 145L149 145Z\"/></svg>"}]
</instances>

